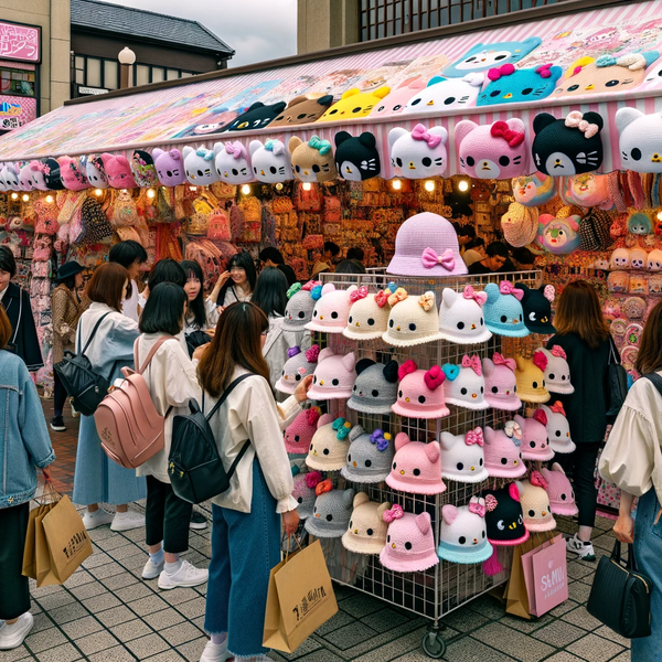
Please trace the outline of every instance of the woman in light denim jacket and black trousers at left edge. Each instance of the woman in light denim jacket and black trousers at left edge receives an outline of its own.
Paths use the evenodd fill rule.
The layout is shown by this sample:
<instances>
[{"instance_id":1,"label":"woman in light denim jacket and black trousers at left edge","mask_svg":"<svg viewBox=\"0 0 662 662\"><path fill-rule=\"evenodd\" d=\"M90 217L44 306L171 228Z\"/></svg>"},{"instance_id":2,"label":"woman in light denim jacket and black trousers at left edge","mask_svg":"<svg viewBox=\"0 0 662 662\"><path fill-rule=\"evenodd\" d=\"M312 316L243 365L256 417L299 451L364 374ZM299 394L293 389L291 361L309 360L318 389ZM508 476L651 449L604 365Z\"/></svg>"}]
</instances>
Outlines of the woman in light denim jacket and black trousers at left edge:
<instances>
[{"instance_id":1,"label":"woman in light denim jacket and black trousers at left edge","mask_svg":"<svg viewBox=\"0 0 662 662\"><path fill-rule=\"evenodd\" d=\"M0 307L0 348L11 323ZM36 388L25 363L0 349L0 650L17 648L32 629L30 588L23 577L23 547L36 471L51 480L55 459Z\"/></svg>"}]
</instances>

